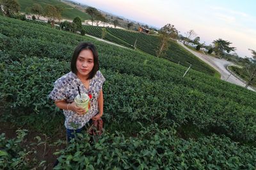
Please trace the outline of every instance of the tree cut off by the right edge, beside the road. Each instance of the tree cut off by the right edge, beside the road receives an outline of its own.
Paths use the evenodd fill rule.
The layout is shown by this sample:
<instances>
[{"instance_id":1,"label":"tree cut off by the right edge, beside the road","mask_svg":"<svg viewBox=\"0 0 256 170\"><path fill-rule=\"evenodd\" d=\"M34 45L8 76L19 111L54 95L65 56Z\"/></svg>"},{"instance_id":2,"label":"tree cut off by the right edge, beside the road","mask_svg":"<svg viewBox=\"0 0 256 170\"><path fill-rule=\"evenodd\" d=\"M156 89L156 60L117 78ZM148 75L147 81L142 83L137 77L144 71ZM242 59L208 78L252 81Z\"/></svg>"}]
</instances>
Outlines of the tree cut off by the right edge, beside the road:
<instances>
[{"instance_id":1,"label":"tree cut off by the right edge, beside the road","mask_svg":"<svg viewBox=\"0 0 256 170\"><path fill-rule=\"evenodd\" d=\"M253 60L251 60L250 64L246 64L246 71L249 74L250 78L247 82L245 88L252 84L253 79L256 76L256 51L252 49L248 49L252 52Z\"/></svg>"}]
</instances>

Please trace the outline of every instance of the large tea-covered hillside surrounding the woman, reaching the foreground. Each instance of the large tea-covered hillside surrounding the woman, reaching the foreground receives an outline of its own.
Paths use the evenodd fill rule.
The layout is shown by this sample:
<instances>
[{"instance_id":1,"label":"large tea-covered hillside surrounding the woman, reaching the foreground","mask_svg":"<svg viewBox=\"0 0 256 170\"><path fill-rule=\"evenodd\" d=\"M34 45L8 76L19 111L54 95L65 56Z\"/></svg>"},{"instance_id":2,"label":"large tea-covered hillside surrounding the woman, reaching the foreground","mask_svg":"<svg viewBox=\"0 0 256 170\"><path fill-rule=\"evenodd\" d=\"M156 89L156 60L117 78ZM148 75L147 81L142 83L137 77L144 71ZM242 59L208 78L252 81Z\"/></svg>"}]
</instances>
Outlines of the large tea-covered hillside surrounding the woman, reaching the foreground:
<instances>
[{"instance_id":1,"label":"large tea-covered hillside surrounding the woman, reaching the foreground","mask_svg":"<svg viewBox=\"0 0 256 170\"><path fill-rule=\"evenodd\" d=\"M24 133L15 142L2 134L0 169L39 168L36 152L26 156L33 146L43 147L44 165L54 159L44 147L65 143L63 114L48 94L81 41L99 52L106 131L93 143L83 132L56 147L58 169L255 169L255 92L193 69L183 78L187 67L169 60L2 16L0 131L8 134L11 122L45 138L25 147Z\"/></svg>"}]
</instances>

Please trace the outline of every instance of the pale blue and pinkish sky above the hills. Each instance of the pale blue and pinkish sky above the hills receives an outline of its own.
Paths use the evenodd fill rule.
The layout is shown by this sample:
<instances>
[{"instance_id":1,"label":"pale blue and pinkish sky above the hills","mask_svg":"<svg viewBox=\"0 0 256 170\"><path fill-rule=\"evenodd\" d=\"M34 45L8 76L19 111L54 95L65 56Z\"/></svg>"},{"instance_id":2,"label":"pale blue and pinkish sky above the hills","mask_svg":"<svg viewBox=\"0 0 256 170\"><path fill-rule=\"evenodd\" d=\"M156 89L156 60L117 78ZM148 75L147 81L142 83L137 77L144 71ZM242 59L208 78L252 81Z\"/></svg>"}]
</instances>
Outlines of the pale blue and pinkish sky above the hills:
<instances>
[{"instance_id":1,"label":"pale blue and pinkish sky above the hills","mask_svg":"<svg viewBox=\"0 0 256 170\"><path fill-rule=\"evenodd\" d=\"M210 45L215 39L230 41L240 57L251 57L256 50L255 0L74 0L161 28L175 25L179 34L193 29L200 43Z\"/></svg>"}]
</instances>

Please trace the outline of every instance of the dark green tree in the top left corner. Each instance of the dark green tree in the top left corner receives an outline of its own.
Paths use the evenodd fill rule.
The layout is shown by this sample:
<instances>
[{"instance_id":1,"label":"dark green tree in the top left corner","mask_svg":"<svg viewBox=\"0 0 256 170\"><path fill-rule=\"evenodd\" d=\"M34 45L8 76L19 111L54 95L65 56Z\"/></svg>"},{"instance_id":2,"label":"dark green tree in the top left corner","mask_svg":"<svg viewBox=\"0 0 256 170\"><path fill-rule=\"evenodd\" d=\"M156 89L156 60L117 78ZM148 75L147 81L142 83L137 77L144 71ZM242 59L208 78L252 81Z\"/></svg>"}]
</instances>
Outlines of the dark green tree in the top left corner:
<instances>
[{"instance_id":1,"label":"dark green tree in the top left corner","mask_svg":"<svg viewBox=\"0 0 256 170\"><path fill-rule=\"evenodd\" d=\"M6 17L19 13L20 4L17 0L0 0L0 10Z\"/></svg>"}]
</instances>

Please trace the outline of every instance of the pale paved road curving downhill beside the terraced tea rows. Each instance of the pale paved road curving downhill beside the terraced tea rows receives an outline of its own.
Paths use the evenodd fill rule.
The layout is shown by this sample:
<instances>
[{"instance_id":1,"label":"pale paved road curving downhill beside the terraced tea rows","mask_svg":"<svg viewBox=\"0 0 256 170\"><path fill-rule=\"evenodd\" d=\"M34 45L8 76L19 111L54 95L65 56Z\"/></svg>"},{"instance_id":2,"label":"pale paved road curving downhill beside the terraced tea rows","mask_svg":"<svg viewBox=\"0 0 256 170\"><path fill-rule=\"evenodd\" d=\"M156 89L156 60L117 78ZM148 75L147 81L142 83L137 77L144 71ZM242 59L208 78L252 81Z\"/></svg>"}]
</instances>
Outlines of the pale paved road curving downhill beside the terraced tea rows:
<instances>
[{"instance_id":1,"label":"pale paved road curving downhill beside the terraced tea rows","mask_svg":"<svg viewBox=\"0 0 256 170\"><path fill-rule=\"evenodd\" d=\"M229 61L224 60L224 59L218 59L218 58L212 57L210 55L205 55L203 53L195 52L195 51L189 49L187 46L180 43L179 41L178 41L178 43L180 45L182 45L184 48L186 48L186 50L193 53L196 57L203 60L204 62L206 62L210 66L214 67L214 69L216 69L221 74L221 80L225 80L225 81L228 81L230 83L245 87L246 84L243 83L243 81L236 78L236 76L234 76L233 74L231 74L227 70L228 65L234 65L234 64L232 64L232 62L229 62ZM255 92L255 90L252 89L251 87L248 87L248 89Z\"/></svg>"}]
</instances>

